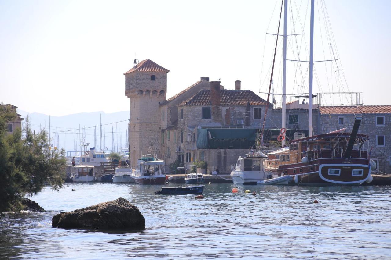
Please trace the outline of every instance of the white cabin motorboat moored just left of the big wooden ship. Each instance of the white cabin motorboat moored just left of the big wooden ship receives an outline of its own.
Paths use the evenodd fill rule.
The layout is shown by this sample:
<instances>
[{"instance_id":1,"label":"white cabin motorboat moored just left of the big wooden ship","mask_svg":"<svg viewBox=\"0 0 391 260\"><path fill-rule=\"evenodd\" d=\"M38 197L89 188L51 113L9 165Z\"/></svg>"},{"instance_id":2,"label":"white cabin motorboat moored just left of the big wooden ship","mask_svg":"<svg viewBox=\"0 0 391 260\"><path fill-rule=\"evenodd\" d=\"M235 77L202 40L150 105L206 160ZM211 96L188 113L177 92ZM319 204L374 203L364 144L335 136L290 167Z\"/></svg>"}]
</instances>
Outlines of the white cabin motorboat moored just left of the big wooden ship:
<instances>
[{"instance_id":1,"label":"white cabin motorboat moored just left of the big wooden ship","mask_svg":"<svg viewBox=\"0 0 391 260\"><path fill-rule=\"evenodd\" d=\"M246 157L239 157L236 165L231 165L231 178L233 184L255 185L260 181L272 177L271 171L265 171L263 160L267 158L262 152L253 149Z\"/></svg>"}]
</instances>

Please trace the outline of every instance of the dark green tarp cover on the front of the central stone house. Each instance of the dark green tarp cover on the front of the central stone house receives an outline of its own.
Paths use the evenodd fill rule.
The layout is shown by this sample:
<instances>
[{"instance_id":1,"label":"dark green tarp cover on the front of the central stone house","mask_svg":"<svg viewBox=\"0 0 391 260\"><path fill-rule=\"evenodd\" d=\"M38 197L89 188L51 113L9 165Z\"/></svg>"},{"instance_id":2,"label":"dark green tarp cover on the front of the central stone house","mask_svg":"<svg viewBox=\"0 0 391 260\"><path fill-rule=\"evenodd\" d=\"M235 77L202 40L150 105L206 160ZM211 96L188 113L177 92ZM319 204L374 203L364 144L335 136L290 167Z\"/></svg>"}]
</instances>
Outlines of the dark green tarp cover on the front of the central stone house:
<instances>
[{"instance_id":1,"label":"dark green tarp cover on the front of the central stone house","mask_svg":"<svg viewBox=\"0 0 391 260\"><path fill-rule=\"evenodd\" d=\"M198 129L197 149L249 149L255 145L255 128Z\"/></svg>"}]
</instances>

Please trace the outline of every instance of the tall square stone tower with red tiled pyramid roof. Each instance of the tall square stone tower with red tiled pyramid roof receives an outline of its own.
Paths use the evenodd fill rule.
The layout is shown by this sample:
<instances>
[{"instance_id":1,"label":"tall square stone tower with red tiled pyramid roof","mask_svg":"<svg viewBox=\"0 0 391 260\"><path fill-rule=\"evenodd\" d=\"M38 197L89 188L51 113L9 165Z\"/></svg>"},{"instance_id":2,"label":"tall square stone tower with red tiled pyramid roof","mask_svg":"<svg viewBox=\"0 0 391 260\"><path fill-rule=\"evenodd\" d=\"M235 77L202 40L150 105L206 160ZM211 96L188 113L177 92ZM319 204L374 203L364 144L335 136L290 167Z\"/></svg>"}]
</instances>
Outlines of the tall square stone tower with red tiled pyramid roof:
<instances>
[{"instance_id":1,"label":"tall square stone tower with red tiled pyramid roof","mask_svg":"<svg viewBox=\"0 0 391 260\"><path fill-rule=\"evenodd\" d=\"M168 69L150 59L141 61L125 75L125 95L130 98L130 165L147 153L148 147L161 157L160 102L166 99Z\"/></svg>"}]
</instances>

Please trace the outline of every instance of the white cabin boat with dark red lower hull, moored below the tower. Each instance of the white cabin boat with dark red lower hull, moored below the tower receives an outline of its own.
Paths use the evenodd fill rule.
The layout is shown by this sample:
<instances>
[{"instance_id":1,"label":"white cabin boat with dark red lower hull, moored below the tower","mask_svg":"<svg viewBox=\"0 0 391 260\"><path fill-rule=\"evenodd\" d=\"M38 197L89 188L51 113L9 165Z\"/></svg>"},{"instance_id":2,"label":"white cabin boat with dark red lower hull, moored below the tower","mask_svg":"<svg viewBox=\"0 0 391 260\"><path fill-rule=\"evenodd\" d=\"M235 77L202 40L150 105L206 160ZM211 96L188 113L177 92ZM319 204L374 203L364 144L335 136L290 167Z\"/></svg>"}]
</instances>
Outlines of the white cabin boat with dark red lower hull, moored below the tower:
<instances>
[{"instance_id":1,"label":"white cabin boat with dark red lower hull, moored below the tower","mask_svg":"<svg viewBox=\"0 0 391 260\"><path fill-rule=\"evenodd\" d=\"M137 166L132 169L130 176L137 184L163 184L166 181L164 161L137 160Z\"/></svg>"}]
</instances>

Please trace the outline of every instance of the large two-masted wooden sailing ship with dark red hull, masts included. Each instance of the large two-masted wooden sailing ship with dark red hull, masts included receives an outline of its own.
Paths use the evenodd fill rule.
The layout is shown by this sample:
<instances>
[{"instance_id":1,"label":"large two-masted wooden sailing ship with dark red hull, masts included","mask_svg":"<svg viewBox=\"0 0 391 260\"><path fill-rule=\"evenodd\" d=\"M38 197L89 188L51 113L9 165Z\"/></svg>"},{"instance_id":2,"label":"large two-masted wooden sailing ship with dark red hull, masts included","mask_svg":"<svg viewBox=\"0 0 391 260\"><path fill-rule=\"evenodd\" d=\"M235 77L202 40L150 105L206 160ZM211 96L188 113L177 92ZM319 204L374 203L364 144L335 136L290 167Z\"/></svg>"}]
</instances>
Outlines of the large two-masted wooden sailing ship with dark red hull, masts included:
<instances>
[{"instance_id":1,"label":"large two-masted wooden sailing ship with dark red hull, masts included","mask_svg":"<svg viewBox=\"0 0 391 260\"><path fill-rule=\"evenodd\" d=\"M282 149L268 153L264 166L276 169L278 176L290 175L290 183L300 185L360 185L371 180L370 152L362 148L368 136L358 134L362 118L355 118L351 132L346 128L327 134L312 135L312 80L313 80L313 45L314 45L314 0L310 7L310 57L309 57L309 93L308 93L308 137L289 141L285 147L285 86L286 86L286 48L287 48L287 0L284 3L283 28L283 80L282 80L282 129L278 141L282 141ZM280 14L281 17L281 14ZM277 33L278 41L278 33ZM277 43L276 43L277 47ZM275 53L274 53L275 59ZM269 84L269 102L273 82L272 67ZM267 107L265 111L265 118ZM264 124L260 134L263 145ZM357 149L353 149L354 147Z\"/></svg>"}]
</instances>

